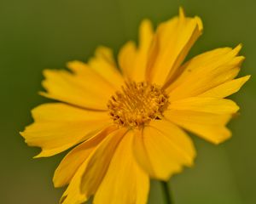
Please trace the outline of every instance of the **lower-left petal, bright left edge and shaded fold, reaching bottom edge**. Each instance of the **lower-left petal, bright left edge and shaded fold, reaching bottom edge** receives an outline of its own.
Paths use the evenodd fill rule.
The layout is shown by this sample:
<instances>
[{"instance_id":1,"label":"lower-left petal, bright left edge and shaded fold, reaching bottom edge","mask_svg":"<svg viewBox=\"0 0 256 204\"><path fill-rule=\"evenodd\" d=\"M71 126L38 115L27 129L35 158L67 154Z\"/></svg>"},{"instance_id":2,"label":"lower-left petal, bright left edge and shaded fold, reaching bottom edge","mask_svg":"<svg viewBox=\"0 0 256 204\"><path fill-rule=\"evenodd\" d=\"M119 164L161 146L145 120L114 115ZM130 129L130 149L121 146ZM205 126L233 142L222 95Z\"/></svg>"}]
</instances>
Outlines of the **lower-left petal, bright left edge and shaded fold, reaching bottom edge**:
<instances>
[{"instance_id":1,"label":"lower-left petal, bright left edge and shaded fold, reaching bottom edge","mask_svg":"<svg viewBox=\"0 0 256 204\"><path fill-rule=\"evenodd\" d=\"M102 178L108 171L113 153L126 132L126 128L113 131L96 146L73 176L67 190L62 195L61 204L80 204L81 201L87 201L91 195L96 193Z\"/></svg>"}]
</instances>

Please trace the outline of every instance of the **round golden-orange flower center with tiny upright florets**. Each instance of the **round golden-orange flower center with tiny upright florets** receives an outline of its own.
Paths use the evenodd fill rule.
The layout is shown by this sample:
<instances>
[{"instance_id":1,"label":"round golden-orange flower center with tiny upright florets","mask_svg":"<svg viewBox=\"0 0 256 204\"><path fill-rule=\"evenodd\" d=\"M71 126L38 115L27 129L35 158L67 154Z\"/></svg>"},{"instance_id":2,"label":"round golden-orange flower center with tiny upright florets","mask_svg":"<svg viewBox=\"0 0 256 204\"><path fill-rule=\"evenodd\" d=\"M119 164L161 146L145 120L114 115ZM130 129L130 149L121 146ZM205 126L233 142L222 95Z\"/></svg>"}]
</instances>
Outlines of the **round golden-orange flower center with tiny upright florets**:
<instances>
[{"instance_id":1,"label":"round golden-orange flower center with tiny upright florets","mask_svg":"<svg viewBox=\"0 0 256 204\"><path fill-rule=\"evenodd\" d=\"M109 114L120 127L142 127L160 119L168 106L168 96L147 82L126 82L122 91L108 100Z\"/></svg>"}]
</instances>

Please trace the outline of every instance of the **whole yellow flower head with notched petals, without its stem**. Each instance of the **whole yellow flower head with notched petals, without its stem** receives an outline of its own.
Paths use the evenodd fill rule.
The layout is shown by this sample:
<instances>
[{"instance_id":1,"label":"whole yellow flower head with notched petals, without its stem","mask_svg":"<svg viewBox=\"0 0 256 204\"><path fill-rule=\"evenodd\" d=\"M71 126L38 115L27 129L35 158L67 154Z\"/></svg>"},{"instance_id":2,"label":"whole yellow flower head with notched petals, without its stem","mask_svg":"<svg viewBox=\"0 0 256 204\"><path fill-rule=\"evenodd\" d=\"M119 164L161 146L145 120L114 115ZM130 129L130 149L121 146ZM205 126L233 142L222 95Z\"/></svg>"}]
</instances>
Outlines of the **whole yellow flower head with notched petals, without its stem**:
<instances>
[{"instance_id":1,"label":"whole yellow flower head with notched petals, without its stem","mask_svg":"<svg viewBox=\"0 0 256 204\"><path fill-rule=\"evenodd\" d=\"M183 64L200 37L199 17L180 14L153 30L143 20L139 44L100 47L70 71L44 71L42 93L61 102L32 110L34 123L21 135L54 156L73 146L55 170L55 187L68 184L64 204L143 204L149 178L168 180L193 165L195 133L213 144L230 138L225 127L239 107L230 99L249 76L234 79L244 57L217 48ZM121 69L119 71L118 67ZM184 130L183 130L184 129Z\"/></svg>"}]
</instances>

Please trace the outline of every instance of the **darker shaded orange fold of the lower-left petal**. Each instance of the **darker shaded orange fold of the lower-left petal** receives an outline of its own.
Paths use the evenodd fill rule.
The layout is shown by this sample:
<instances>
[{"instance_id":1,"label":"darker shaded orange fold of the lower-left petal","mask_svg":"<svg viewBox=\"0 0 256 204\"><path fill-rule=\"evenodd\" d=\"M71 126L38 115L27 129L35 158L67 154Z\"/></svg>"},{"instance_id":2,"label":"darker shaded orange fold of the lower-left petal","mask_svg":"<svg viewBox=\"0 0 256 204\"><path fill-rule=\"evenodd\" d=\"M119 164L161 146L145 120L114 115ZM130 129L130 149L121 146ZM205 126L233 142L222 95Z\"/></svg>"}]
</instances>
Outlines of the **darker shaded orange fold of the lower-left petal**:
<instances>
[{"instance_id":1,"label":"darker shaded orange fold of the lower-left petal","mask_svg":"<svg viewBox=\"0 0 256 204\"><path fill-rule=\"evenodd\" d=\"M110 133L108 137L96 147L96 150L91 153L88 158L88 164L84 169L80 185L80 190L86 197L90 197L90 195L96 193L96 190L102 182L102 178L104 178L108 171L113 153L126 132L126 128L121 128Z\"/></svg>"}]
</instances>

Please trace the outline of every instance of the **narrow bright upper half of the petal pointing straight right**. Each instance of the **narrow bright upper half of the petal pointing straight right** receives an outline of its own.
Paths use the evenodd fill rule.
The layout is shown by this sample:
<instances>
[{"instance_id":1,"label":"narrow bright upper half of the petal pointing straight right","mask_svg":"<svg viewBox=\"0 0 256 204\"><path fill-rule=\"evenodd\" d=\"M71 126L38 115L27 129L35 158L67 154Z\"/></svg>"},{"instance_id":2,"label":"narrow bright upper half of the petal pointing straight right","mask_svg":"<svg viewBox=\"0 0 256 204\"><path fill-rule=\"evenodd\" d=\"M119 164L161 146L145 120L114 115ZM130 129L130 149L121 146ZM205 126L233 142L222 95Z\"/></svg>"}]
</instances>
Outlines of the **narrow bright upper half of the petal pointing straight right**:
<instances>
[{"instance_id":1,"label":"narrow bright upper half of the petal pointing straight right","mask_svg":"<svg viewBox=\"0 0 256 204\"><path fill-rule=\"evenodd\" d=\"M201 111L213 114L233 114L239 110L236 103L230 99L190 97L172 101L169 110Z\"/></svg>"}]
</instances>

